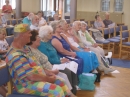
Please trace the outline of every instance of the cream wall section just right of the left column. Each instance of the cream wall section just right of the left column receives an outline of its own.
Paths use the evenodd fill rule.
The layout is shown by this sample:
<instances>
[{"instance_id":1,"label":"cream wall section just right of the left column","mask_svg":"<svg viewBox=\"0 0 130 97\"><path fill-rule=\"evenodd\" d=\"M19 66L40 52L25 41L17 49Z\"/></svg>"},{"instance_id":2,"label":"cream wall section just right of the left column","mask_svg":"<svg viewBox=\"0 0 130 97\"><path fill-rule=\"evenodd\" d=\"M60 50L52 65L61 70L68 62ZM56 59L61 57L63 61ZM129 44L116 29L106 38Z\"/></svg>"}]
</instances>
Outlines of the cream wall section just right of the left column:
<instances>
[{"instance_id":1,"label":"cream wall section just right of the left column","mask_svg":"<svg viewBox=\"0 0 130 97\"><path fill-rule=\"evenodd\" d=\"M22 0L22 12L38 12L40 10L40 0Z\"/></svg>"}]
</instances>

